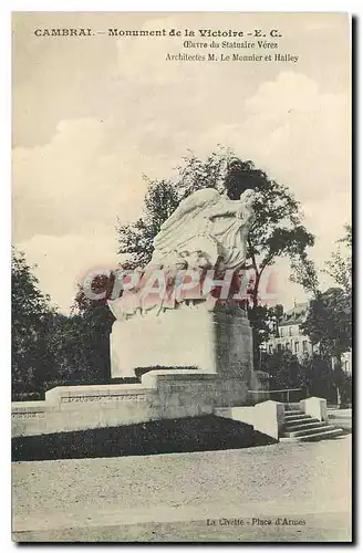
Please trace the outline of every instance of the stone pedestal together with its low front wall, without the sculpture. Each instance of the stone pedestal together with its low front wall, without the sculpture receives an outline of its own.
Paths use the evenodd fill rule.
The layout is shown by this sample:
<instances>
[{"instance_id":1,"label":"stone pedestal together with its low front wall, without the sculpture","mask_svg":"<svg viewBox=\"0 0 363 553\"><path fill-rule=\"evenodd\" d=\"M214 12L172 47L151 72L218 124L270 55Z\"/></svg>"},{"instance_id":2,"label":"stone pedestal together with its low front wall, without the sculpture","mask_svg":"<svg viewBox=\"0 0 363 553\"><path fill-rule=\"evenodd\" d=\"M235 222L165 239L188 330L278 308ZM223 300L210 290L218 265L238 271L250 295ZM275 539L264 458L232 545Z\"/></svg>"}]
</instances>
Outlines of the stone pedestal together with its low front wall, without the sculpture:
<instances>
[{"instance_id":1,"label":"stone pedestal together with its low front wall, without the sculpture","mask_svg":"<svg viewBox=\"0 0 363 553\"><path fill-rule=\"evenodd\" d=\"M239 309L201 304L115 322L111 359L113 377L135 376L137 367L168 371L146 372L141 384L61 386L45 401L15 403L13 436L211 415L255 405L256 390L268 387L265 373L252 371L251 328Z\"/></svg>"}]
</instances>

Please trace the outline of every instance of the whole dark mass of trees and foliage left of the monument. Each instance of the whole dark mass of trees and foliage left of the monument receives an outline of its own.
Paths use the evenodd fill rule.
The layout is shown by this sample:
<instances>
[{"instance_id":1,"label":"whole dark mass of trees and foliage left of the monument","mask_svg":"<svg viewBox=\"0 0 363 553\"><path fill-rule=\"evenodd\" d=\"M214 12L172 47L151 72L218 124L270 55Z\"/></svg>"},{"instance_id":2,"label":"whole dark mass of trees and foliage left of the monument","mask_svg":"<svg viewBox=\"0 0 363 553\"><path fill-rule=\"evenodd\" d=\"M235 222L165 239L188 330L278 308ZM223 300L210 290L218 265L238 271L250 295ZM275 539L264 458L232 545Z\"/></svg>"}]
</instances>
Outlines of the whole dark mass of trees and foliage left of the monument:
<instances>
[{"instance_id":1,"label":"whole dark mass of trees and foliage left of the monument","mask_svg":"<svg viewBox=\"0 0 363 553\"><path fill-rule=\"evenodd\" d=\"M110 377L106 305L82 294L71 316L50 307L23 253L12 252L12 397L37 398L64 383ZM92 307L92 309L91 309ZM51 386L52 387L52 386Z\"/></svg>"}]
</instances>

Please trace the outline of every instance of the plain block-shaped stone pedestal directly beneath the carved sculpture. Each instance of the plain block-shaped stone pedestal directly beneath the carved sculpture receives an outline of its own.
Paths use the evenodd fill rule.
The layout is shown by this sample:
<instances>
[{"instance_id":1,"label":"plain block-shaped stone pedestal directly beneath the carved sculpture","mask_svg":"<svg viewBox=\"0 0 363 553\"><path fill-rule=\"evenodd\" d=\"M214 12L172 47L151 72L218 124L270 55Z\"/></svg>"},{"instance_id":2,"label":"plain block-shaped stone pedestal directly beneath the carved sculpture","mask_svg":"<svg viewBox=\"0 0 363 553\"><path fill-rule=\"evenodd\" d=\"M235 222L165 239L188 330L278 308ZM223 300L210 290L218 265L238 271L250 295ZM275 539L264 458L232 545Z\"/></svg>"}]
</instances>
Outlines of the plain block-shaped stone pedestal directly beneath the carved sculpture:
<instances>
[{"instance_id":1,"label":"plain block-shaped stone pedestal directly beneath the carved sculpture","mask_svg":"<svg viewBox=\"0 0 363 553\"><path fill-rule=\"evenodd\" d=\"M115 321L110 345L112 378L142 367L194 367L249 382L252 371L252 333L238 307L200 304Z\"/></svg>"}]
</instances>

